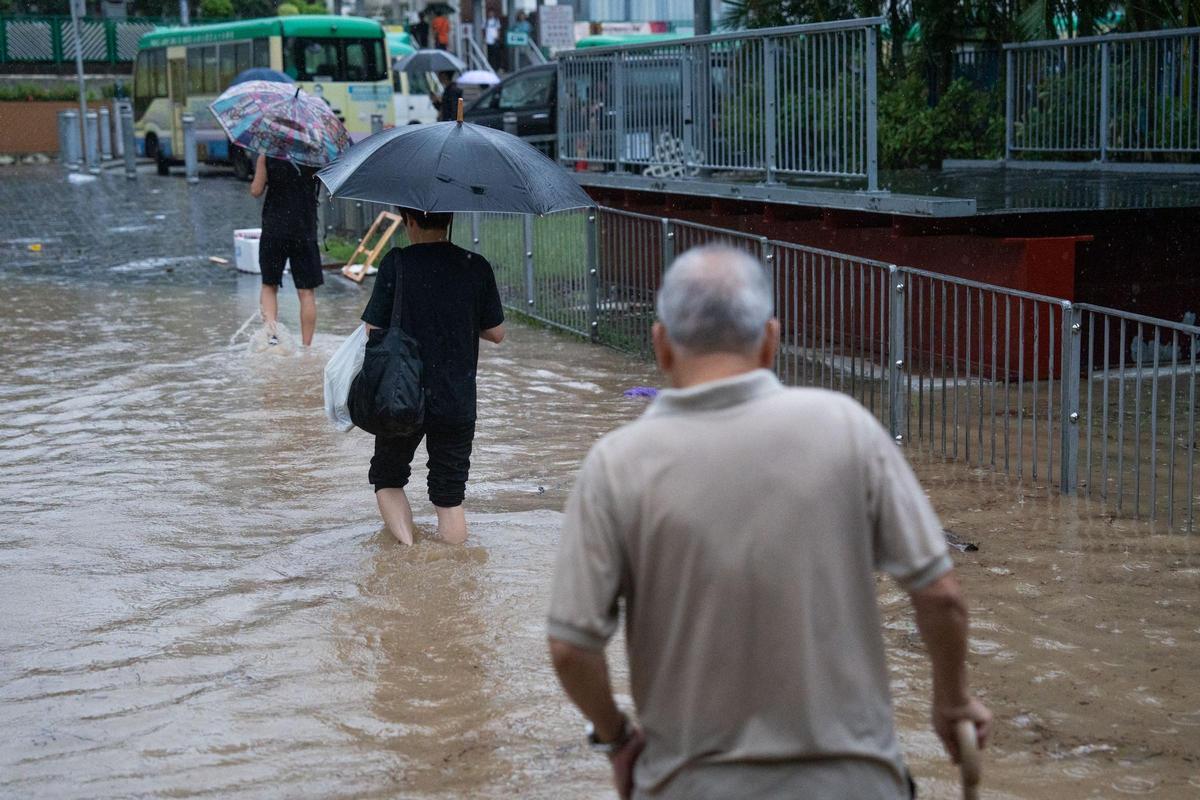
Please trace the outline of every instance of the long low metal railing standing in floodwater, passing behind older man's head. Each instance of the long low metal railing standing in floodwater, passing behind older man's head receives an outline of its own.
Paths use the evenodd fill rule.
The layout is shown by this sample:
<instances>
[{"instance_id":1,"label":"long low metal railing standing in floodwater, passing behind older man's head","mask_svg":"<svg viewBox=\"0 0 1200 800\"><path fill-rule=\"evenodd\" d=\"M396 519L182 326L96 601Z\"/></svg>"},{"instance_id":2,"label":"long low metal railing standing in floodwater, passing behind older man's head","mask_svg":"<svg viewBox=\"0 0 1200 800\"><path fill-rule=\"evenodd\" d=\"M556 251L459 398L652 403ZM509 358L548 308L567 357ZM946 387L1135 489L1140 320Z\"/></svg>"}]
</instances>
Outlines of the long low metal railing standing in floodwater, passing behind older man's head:
<instances>
[{"instance_id":1,"label":"long low metal railing standing in floodwater, passing behind older man's head","mask_svg":"<svg viewBox=\"0 0 1200 800\"><path fill-rule=\"evenodd\" d=\"M358 231L377 210L341 205ZM1200 326L613 209L460 215L454 240L508 308L637 355L677 254L745 249L769 270L784 383L851 395L935 458L1196 530Z\"/></svg>"}]
</instances>

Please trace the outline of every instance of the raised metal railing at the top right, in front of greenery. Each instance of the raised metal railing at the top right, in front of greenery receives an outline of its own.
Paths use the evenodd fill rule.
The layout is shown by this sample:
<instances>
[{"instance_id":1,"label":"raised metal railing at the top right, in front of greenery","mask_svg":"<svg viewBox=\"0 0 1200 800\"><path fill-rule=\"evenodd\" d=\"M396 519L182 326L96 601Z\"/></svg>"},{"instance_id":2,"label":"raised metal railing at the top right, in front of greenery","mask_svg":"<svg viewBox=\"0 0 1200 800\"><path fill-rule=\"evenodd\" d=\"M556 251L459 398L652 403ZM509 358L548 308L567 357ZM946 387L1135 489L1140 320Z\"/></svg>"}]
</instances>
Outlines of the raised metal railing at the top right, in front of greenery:
<instances>
[{"instance_id":1,"label":"raised metal railing at the top right, in front of greenery","mask_svg":"<svg viewBox=\"0 0 1200 800\"><path fill-rule=\"evenodd\" d=\"M1200 152L1200 28L1004 50L1008 158Z\"/></svg>"}]
</instances>

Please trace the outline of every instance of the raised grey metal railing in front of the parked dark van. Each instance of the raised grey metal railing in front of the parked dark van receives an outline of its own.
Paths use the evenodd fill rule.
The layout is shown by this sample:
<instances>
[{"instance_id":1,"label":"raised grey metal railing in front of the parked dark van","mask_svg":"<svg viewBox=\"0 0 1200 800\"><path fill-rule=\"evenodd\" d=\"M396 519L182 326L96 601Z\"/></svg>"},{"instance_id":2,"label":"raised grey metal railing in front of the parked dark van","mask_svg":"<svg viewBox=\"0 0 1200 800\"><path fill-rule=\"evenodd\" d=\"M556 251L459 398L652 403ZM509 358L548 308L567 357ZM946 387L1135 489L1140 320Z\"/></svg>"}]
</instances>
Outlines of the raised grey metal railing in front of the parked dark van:
<instances>
[{"instance_id":1,"label":"raised grey metal railing in front of the parked dark van","mask_svg":"<svg viewBox=\"0 0 1200 800\"><path fill-rule=\"evenodd\" d=\"M648 178L725 172L878 187L882 18L558 56L558 152Z\"/></svg>"}]
</instances>

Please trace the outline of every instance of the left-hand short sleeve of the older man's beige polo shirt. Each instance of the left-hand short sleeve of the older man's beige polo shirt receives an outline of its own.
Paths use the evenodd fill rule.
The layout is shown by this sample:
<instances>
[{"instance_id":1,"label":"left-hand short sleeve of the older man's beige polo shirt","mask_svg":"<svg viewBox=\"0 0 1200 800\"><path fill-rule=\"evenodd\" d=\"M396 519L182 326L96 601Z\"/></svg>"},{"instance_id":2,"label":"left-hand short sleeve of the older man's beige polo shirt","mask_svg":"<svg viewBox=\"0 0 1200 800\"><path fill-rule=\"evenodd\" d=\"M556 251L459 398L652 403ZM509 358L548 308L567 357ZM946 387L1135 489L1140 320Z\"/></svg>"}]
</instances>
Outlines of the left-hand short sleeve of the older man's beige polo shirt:
<instances>
[{"instance_id":1,"label":"left-hand short sleeve of the older man's beige polo shirt","mask_svg":"<svg viewBox=\"0 0 1200 800\"><path fill-rule=\"evenodd\" d=\"M550 595L551 638L599 650L617 631L625 557L613 511L604 459L593 449L566 501Z\"/></svg>"}]
</instances>

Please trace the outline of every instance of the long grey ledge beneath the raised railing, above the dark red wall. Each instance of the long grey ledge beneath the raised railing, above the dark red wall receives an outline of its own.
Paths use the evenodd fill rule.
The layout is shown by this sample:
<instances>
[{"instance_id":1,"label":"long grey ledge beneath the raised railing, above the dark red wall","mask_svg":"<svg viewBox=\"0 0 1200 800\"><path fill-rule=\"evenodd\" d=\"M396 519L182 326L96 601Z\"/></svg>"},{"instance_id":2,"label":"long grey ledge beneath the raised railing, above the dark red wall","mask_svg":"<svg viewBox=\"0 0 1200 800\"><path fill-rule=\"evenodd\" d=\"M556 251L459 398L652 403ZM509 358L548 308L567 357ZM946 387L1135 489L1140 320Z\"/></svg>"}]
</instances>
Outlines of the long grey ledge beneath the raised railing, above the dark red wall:
<instances>
[{"instance_id":1,"label":"long grey ledge beneath the raised railing, above the dark red wall","mask_svg":"<svg viewBox=\"0 0 1200 800\"><path fill-rule=\"evenodd\" d=\"M686 178L644 178L616 173L575 173L581 186L662 192L736 200L758 200L821 209L900 213L917 217L970 217L976 201L967 198L942 198L892 192L856 192L851 190L805 188L786 184L733 184Z\"/></svg>"}]
</instances>

